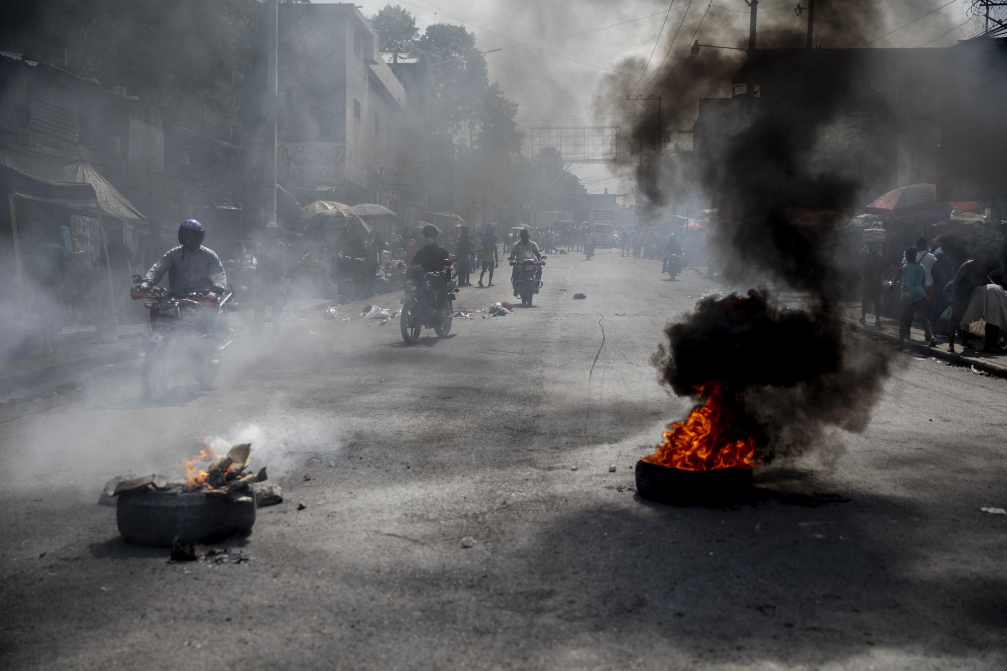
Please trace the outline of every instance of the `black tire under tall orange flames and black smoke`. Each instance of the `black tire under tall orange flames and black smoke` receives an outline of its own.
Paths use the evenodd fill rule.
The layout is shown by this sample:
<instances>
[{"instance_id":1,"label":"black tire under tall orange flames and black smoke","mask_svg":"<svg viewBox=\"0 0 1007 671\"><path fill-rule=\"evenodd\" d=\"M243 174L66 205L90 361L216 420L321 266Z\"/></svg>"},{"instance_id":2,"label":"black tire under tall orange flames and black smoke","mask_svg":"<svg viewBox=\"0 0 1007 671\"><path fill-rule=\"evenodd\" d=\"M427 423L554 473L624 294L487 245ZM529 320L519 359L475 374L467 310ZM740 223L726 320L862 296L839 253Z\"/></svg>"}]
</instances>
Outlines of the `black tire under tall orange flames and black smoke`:
<instances>
[{"instance_id":1,"label":"black tire under tall orange flames and black smoke","mask_svg":"<svg viewBox=\"0 0 1007 671\"><path fill-rule=\"evenodd\" d=\"M728 503L743 498L751 484L751 468L683 471L643 459L636 461L636 493L659 503Z\"/></svg>"}]
</instances>

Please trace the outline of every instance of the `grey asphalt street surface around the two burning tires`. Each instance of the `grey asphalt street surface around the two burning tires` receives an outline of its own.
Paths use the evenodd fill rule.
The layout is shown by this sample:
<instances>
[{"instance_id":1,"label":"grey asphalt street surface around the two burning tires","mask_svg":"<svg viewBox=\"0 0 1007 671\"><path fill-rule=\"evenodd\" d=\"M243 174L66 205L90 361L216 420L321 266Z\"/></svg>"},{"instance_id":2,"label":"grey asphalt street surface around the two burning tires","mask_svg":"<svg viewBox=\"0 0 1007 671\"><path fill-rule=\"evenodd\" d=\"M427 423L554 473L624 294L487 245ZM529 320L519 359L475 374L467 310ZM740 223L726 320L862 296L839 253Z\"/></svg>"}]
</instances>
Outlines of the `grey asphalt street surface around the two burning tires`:
<instances>
[{"instance_id":1,"label":"grey asphalt street surface around the two burning tires","mask_svg":"<svg viewBox=\"0 0 1007 671\"><path fill-rule=\"evenodd\" d=\"M508 299L501 271L459 305ZM716 288L659 271L554 256L536 307L447 339L317 315L161 406L133 371L0 408L0 665L1007 668L1007 515L980 511L1007 507L1005 383L900 355L842 451L757 469L747 503L651 504L633 463L688 404L649 358ZM285 489L246 563L168 563L96 505L203 436L251 437Z\"/></svg>"}]
</instances>

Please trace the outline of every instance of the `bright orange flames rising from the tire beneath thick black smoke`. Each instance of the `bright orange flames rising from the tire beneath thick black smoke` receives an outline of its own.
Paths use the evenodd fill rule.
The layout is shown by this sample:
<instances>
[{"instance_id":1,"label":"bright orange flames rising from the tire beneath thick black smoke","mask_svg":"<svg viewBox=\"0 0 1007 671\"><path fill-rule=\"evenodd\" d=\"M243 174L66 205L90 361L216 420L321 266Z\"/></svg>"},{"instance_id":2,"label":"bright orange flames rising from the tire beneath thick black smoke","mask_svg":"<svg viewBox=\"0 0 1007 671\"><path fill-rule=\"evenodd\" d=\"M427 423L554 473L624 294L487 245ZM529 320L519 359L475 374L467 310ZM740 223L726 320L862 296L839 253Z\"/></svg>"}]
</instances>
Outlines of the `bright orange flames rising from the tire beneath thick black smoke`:
<instances>
[{"instance_id":1,"label":"bright orange flames rising from the tire beneath thick black smoke","mask_svg":"<svg viewBox=\"0 0 1007 671\"><path fill-rule=\"evenodd\" d=\"M705 388L698 392L706 395ZM682 471L757 466L761 459L756 455L755 438L731 435L731 414L723 397L723 387L714 384L706 403L693 408L684 421L669 424L665 441L643 460Z\"/></svg>"}]
</instances>

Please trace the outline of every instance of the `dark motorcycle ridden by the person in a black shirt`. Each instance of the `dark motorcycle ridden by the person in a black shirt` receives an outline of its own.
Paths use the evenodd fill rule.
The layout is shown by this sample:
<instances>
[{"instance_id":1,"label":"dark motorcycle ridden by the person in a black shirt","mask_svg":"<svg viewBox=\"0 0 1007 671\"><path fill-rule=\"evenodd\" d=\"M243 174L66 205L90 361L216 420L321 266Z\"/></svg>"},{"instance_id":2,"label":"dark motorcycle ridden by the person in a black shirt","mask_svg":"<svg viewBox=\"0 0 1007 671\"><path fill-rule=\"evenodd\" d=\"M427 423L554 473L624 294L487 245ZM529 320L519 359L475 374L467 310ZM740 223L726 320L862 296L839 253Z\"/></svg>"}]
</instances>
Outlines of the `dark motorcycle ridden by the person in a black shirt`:
<instances>
[{"instance_id":1,"label":"dark motorcycle ridden by the person in a black shirt","mask_svg":"<svg viewBox=\"0 0 1007 671\"><path fill-rule=\"evenodd\" d=\"M440 338L450 333L457 286L451 279L450 265L444 266L442 272L426 272L421 266L410 268L399 315L402 340L410 345L418 343L424 326L433 328Z\"/></svg>"}]
</instances>

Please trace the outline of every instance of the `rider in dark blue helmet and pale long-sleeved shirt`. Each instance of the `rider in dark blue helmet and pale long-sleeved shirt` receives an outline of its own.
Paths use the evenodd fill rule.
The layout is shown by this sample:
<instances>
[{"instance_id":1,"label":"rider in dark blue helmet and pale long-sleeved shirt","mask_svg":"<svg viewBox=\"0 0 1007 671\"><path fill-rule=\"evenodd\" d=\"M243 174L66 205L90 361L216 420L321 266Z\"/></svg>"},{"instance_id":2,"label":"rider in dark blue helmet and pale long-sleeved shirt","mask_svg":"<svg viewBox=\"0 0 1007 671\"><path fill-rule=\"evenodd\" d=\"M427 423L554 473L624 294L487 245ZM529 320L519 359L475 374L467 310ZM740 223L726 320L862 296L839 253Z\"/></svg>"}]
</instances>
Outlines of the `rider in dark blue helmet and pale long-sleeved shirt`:
<instances>
[{"instance_id":1,"label":"rider in dark blue helmet and pale long-sleeved shirt","mask_svg":"<svg viewBox=\"0 0 1007 671\"><path fill-rule=\"evenodd\" d=\"M168 292L184 296L189 291L224 291L228 275L224 264L211 249L202 246L206 230L194 219L187 219L178 227L178 247L164 253L140 283L149 289L168 274Z\"/></svg>"}]
</instances>

